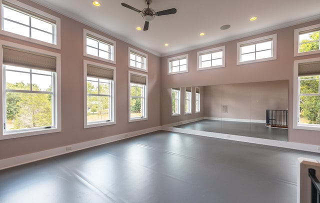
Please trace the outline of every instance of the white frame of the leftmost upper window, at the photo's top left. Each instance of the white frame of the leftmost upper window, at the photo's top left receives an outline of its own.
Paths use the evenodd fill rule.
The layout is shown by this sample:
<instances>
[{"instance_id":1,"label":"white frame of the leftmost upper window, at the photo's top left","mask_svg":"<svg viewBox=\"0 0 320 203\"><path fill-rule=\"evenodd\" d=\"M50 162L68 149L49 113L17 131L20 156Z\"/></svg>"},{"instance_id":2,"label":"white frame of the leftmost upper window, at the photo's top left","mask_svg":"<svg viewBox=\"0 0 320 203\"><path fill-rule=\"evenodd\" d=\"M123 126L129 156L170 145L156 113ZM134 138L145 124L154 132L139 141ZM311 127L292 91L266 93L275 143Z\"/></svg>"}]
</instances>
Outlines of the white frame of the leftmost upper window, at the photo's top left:
<instances>
[{"instance_id":1,"label":"white frame of the leftmost upper window, at the photo's top left","mask_svg":"<svg viewBox=\"0 0 320 203\"><path fill-rule=\"evenodd\" d=\"M24 3L21 3L17 0L5 0L6 2L12 4L12 5L15 5L16 7L19 7L21 8L19 11L23 12L23 13L27 13L29 15L32 15L36 18L40 18L41 17L44 17L42 18L42 20L45 20L47 21L45 18L47 19L50 19L52 21L55 22L55 25L54 25L54 28L53 28L53 38L54 38L54 41L53 43L48 43L48 42L45 42L45 41L41 41L41 40L38 40L38 39L35 39L35 38L31 38L31 37L27 37L27 36L23 36L23 35L20 35L20 34L16 34L16 33L13 33L13 32L10 32L10 31L6 31L6 30L3 30L3 6L4 6L4 3L2 2L1 0L1 10L0 10L0 15L1 15L1 20L0 20L0 26L1 26L1 29L0 29L0 34L3 34L3 35L6 35L6 36L10 36L10 37L13 37L13 38L17 38L17 39L21 39L21 40L24 40L24 41L29 41L29 42L32 42L32 43L36 43L36 44L40 44L40 45L44 45L44 46L48 46L48 47L51 47L51 48L56 48L56 49L60 49L61 48L61 34L60 34L60 27L61 27L61 22L60 22L60 18L56 17L56 16L53 16L49 13L46 13L42 10L39 10L39 9L36 9L32 6L29 6L27 4L24 4ZM14 8L14 9L18 9L18 8ZM35 13L35 14L33 14Z\"/></svg>"}]
</instances>

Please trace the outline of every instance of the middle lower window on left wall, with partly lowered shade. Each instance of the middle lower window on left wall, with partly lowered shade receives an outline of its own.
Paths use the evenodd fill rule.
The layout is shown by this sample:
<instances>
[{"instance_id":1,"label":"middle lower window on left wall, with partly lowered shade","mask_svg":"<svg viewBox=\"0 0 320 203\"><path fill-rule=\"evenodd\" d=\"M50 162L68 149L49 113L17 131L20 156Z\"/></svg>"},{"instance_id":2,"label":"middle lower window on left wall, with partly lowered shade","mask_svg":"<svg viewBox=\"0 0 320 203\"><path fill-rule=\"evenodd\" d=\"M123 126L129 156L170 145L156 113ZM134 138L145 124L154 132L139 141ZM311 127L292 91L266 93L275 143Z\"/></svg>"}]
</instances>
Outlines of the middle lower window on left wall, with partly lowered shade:
<instances>
[{"instance_id":1,"label":"middle lower window on left wall, with partly lowered shade","mask_svg":"<svg viewBox=\"0 0 320 203\"><path fill-rule=\"evenodd\" d=\"M84 61L84 127L114 124L114 67Z\"/></svg>"}]
</instances>

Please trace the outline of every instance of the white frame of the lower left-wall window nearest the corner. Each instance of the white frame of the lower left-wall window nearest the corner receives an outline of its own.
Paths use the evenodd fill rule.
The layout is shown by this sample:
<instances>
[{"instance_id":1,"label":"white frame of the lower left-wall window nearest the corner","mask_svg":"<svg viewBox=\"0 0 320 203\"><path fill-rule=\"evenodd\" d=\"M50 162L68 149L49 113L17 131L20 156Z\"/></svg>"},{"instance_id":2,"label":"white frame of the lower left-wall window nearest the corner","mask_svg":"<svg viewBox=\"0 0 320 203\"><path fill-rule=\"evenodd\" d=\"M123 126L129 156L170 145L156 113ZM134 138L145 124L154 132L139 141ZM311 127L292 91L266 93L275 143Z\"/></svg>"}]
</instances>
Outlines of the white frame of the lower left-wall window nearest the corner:
<instances>
[{"instance_id":1,"label":"white frame of the lower left-wall window nearest the corner","mask_svg":"<svg viewBox=\"0 0 320 203\"><path fill-rule=\"evenodd\" d=\"M135 74L135 75L140 75L145 77L145 85L144 85L144 116L143 117L134 117L131 118L131 74ZM148 119L148 75L147 74L143 74L143 73L139 73L139 72L135 72L135 71L128 71L128 122L135 122L135 121L142 121L142 120L147 120Z\"/></svg>"}]
</instances>

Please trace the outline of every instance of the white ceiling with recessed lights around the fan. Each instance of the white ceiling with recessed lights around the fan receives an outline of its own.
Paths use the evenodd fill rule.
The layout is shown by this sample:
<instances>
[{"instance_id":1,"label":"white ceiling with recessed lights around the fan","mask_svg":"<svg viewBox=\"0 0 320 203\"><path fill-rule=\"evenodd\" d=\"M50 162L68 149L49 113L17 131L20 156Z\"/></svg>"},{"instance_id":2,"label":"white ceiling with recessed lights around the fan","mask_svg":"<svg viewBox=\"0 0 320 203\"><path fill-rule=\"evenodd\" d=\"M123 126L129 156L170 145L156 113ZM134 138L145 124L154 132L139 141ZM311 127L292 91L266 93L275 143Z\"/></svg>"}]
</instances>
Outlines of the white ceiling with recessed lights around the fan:
<instances>
[{"instance_id":1,"label":"white ceiling with recessed lights around the fan","mask_svg":"<svg viewBox=\"0 0 320 203\"><path fill-rule=\"evenodd\" d=\"M99 7L92 0L32 1L159 56L320 19L320 0L152 0L155 11L177 12L155 16L147 31L137 31L144 20L121 2L142 10L144 0L100 0ZM231 27L220 30L224 24Z\"/></svg>"}]
</instances>

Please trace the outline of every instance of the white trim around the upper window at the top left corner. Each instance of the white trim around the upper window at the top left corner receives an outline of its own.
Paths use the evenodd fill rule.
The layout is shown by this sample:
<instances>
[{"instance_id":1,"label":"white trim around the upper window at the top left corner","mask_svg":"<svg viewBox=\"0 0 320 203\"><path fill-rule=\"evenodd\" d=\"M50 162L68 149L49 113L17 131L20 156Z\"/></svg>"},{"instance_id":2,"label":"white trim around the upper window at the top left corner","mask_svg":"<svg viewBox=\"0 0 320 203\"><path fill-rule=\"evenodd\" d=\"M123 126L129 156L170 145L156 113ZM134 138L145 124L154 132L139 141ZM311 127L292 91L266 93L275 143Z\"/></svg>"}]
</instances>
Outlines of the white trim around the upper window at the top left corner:
<instances>
[{"instance_id":1,"label":"white trim around the upper window at the top left corner","mask_svg":"<svg viewBox=\"0 0 320 203\"><path fill-rule=\"evenodd\" d=\"M13 38L17 38L17 39L21 39L21 40L24 40L24 41L29 41L29 42L32 42L32 43L36 43L36 44L40 44L40 45L43 45L43 46L48 46L48 47L51 47L51 48L56 48L56 49L60 49L61 48L61 23L60 23L60 18L56 17L56 16L53 16L49 13L46 13L46 12L43 12L42 10L39 10L39 9L36 9L34 7L31 7L29 5L26 5L24 3L21 3L20 1L17 1L17 0L5 0L9 3L12 3L14 5L17 5L23 9L26 9L26 10L29 10L30 12L34 12L34 13L37 13L39 15L42 15L44 17L47 17L49 19L52 19L52 21L55 21L55 42L56 44L53 44L53 43L48 43L48 42L45 42L45 41L41 41L41 40L38 40L38 39L34 39L34 38L30 38L30 37L27 37L27 36L22 36L20 34L16 34L16 33L13 33L13 32L9 32L9 31L5 31L3 30L3 24L2 24L2 19L3 19L3 13L2 13L2 10L3 10L3 5L2 5L2 0L1 0L1 9L0 9L0 15L1 15L1 20L0 20L0 34L3 34L3 35L6 35L6 36L10 36L10 37L13 37ZM54 34L54 33L53 33Z\"/></svg>"}]
</instances>

